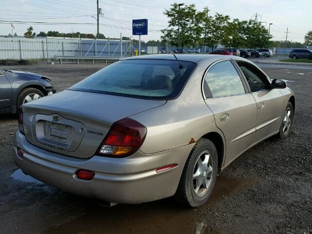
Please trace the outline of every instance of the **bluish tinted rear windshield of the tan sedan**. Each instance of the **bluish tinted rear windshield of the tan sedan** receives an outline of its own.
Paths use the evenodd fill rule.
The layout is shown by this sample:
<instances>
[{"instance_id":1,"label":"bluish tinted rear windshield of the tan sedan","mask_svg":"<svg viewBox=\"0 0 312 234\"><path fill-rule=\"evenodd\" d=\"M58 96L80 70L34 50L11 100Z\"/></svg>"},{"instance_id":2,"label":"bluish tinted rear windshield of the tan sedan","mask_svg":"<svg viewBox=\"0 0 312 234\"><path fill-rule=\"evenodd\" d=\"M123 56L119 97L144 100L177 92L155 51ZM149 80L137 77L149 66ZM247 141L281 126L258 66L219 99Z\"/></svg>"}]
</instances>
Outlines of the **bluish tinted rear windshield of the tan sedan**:
<instances>
[{"instance_id":1,"label":"bluish tinted rear windshield of the tan sedan","mask_svg":"<svg viewBox=\"0 0 312 234\"><path fill-rule=\"evenodd\" d=\"M113 63L69 90L148 99L176 98L195 68L177 60L129 59Z\"/></svg>"}]
</instances>

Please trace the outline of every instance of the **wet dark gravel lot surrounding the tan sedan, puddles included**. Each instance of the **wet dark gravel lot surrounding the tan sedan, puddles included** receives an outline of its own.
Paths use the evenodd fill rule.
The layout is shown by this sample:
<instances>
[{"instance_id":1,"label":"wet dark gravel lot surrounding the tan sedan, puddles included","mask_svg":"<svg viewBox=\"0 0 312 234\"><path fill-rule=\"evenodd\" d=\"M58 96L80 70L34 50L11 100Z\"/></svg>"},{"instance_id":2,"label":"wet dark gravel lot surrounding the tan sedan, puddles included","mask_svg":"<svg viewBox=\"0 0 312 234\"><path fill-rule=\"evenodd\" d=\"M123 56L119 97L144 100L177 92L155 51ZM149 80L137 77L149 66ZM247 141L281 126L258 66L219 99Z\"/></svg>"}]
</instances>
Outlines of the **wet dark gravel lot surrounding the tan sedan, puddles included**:
<instances>
[{"instance_id":1,"label":"wet dark gravel lot surrounding the tan sedan, puddles included","mask_svg":"<svg viewBox=\"0 0 312 234\"><path fill-rule=\"evenodd\" d=\"M38 64L6 69L45 75L61 91L104 65ZM1 115L0 234L312 233L312 68L261 68L272 78L289 80L296 94L291 136L269 138L237 158L218 177L210 200L197 209L181 207L171 198L107 208L34 182L16 171L11 158L17 118Z\"/></svg>"}]
</instances>

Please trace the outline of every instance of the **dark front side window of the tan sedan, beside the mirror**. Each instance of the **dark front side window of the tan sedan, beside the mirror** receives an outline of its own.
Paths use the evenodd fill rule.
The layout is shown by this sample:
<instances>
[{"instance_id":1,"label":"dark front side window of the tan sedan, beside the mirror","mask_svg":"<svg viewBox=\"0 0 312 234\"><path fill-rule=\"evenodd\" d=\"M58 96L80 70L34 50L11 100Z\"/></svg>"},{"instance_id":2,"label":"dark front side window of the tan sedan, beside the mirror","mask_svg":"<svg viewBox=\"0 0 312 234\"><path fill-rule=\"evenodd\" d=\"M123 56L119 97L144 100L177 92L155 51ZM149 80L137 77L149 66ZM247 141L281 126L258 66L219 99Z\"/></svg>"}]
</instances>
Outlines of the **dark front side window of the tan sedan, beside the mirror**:
<instances>
[{"instance_id":1,"label":"dark front side window of the tan sedan, beside the mirror","mask_svg":"<svg viewBox=\"0 0 312 234\"><path fill-rule=\"evenodd\" d=\"M266 76L255 66L244 61L236 61L248 81L252 92L258 92L270 88Z\"/></svg>"}]
</instances>

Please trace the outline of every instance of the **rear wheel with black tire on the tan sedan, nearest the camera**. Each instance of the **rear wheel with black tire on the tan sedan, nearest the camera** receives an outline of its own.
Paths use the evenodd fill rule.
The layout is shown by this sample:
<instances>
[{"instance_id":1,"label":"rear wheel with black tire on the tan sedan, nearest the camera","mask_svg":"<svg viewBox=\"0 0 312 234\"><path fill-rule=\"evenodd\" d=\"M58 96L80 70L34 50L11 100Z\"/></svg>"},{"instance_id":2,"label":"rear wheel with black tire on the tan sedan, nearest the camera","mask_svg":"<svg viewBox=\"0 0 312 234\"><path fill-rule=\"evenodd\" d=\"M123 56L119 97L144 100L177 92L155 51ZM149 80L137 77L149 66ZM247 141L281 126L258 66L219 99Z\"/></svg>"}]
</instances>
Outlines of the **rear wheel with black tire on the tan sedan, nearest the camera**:
<instances>
[{"instance_id":1,"label":"rear wheel with black tire on the tan sedan, nearest the camera","mask_svg":"<svg viewBox=\"0 0 312 234\"><path fill-rule=\"evenodd\" d=\"M217 165L214 143L200 138L185 163L175 194L176 201L188 207L203 205L214 189Z\"/></svg>"}]
</instances>

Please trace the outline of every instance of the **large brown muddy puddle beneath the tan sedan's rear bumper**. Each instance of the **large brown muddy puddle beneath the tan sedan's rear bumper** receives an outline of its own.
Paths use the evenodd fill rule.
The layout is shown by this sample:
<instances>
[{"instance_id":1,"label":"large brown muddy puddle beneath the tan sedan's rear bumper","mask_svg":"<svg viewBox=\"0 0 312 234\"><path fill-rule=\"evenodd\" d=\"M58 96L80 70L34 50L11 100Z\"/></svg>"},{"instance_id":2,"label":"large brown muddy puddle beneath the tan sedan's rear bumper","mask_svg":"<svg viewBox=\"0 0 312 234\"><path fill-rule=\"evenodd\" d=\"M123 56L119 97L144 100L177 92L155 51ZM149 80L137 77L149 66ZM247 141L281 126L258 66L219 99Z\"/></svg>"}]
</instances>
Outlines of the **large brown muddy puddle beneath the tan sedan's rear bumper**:
<instances>
[{"instance_id":1,"label":"large brown muddy puddle beneath the tan sedan's rear bumper","mask_svg":"<svg viewBox=\"0 0 312 234\"><path fill-rule=\"evenodd\" d=\"M218 199L249 187L256 179L234 180L219 176L215 189L206 204L199 208L186 208L174 199L137 205L118 204L103 207L94 200L83 198L66 209L59 208L48 215L54 219L45 233L195 233L206 232L207 224L199 222L203 211ZM79 208L79 209L78 209Z\"/></svg>"}]
</instances>

